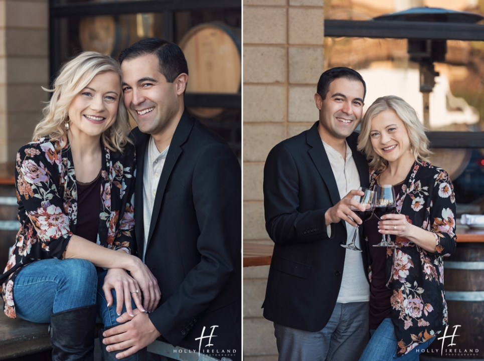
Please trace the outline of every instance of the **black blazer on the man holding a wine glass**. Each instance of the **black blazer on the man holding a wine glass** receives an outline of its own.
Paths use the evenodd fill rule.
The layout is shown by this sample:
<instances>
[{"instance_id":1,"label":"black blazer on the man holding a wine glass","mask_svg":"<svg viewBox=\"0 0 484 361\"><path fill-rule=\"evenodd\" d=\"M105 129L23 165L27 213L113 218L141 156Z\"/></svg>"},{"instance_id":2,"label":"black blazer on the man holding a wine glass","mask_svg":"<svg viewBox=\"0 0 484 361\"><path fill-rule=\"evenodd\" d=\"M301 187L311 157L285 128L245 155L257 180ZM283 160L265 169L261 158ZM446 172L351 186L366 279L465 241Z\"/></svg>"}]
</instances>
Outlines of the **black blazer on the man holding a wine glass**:
<instances>
[{"instance_id":1,"label":"black blazer on the man holding a wine glass","mask_svg":"<svg viewBox=\"0 0 484 361\"><path fill-rule=\"evenodd\" d=\"M326 326L335 307L346 254L340 243L347 240L343 222L332 224L328 237L325 213L340 194L317 124L272 148L264 167L266 229L275 243L264 317L312 332ZM353 133L347 141L360 184L368 187L368 163L356 149L357 137ZM368 275L363 250L361 271Z\"/></svg>"}]
</instances>

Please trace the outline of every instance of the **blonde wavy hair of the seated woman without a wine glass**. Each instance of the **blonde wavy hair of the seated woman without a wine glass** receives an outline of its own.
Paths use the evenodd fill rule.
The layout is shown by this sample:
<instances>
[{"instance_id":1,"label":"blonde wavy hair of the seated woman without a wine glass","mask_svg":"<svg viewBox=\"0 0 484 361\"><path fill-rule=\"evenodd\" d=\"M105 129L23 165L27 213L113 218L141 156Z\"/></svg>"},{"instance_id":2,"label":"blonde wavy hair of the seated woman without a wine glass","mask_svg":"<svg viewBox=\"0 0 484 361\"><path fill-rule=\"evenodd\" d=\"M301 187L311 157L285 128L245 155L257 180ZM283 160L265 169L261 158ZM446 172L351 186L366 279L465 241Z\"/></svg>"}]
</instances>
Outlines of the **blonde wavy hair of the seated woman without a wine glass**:
<instances>
[{"instance_id":1,"label":"blonde wavy hair of the seated woman without a wine glass","mask_svg":"<svg viewBox=\"0 0 484 361\"><path fill-rule=\"evenodd\" d=\"M51 140L57 141L64 137L66 135L64 122L68 120L67 112L73 99L96 75L111 71L119 75L121 85L121 68L109 56L96 52L84 52L65 63L59 71L53 89L42 88L53 94L43 109L44 118L35 127L33 140L49 136ZM127 142L131 143L127 136L129 129L128 114L121 92L116 120L101 134L103 144L113 151L122 152L124 145Z\"/></svg>"}]
</instances>

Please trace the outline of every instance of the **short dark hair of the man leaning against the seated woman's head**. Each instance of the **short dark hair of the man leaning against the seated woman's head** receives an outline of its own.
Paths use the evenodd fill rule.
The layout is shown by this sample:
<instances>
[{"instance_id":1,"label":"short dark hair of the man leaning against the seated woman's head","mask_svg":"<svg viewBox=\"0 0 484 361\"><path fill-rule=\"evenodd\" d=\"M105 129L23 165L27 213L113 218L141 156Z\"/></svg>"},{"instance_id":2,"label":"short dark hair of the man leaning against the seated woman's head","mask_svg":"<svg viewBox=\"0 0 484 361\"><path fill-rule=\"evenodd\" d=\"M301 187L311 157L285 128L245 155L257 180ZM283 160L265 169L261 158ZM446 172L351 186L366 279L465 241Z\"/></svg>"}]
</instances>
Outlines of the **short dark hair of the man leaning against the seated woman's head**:
<instances>
[{"instance_id":1,"label":"short dark hair of the man leaning against the seated woman's head","mask_svg":"<svg viewBox=\"0 0 484 361\"><path fill-rule=\"evenodd\" d=\"M124 60L148 54L158 57L159 72L167 78L169 83L173 83L182 73L188 75L187 60L182 49L175 43L158 38L140 40L123 50L118 58L119 64Z\"/></svg>"}]
</instances>

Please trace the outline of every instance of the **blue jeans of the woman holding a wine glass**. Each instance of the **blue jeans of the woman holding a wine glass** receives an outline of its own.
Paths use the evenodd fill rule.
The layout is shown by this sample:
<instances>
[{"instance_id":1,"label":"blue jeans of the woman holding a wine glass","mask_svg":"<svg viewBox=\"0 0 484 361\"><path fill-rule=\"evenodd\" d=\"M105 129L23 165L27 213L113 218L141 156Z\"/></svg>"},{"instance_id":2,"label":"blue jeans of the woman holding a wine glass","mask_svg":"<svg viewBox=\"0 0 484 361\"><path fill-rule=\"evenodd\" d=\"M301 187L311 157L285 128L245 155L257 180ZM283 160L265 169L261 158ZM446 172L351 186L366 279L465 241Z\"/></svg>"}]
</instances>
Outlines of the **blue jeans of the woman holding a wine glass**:
<instances>
[{"instance_id":1,"label":"blue jeans of the woman holding a wine glass","mask_svg":"<svg viewBox=\"0 0 484 361\"><path fill-rule=\"evenodd\" d=\"M397 337L391 318L385 318L376 330L370 330L370 336L370 342L365 347L360 361L418 361L422 351L435 339L433 336L410 352L397 357Z\"/></svg>"}]
</instances>

